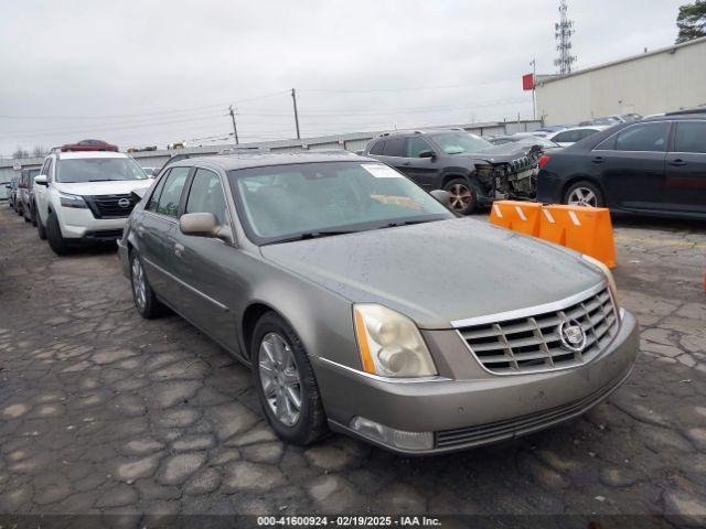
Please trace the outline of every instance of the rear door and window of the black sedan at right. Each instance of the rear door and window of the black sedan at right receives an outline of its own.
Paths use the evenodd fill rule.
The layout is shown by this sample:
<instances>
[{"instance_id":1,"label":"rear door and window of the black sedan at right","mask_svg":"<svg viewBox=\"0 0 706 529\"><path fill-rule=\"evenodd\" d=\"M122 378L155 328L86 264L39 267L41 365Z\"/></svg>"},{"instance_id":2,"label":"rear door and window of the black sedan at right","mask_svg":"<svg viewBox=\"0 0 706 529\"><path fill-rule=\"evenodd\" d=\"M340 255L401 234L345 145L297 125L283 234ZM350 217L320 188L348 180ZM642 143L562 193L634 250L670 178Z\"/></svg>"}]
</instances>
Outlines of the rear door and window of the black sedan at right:
<instances>
[{"instance_id":1,"label":"rear door and window of the black sedan at right","mask_svg":"<svg viewBox=\"0 0 706 529\"><path fill-rule=\"evenodd\" d=\"M664 164L670 121L621 129L590 153L609 207L660 210L664 207Z\"/></svg>"}]
</instances>

